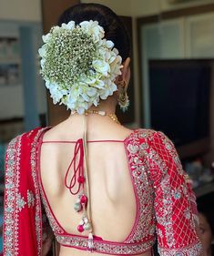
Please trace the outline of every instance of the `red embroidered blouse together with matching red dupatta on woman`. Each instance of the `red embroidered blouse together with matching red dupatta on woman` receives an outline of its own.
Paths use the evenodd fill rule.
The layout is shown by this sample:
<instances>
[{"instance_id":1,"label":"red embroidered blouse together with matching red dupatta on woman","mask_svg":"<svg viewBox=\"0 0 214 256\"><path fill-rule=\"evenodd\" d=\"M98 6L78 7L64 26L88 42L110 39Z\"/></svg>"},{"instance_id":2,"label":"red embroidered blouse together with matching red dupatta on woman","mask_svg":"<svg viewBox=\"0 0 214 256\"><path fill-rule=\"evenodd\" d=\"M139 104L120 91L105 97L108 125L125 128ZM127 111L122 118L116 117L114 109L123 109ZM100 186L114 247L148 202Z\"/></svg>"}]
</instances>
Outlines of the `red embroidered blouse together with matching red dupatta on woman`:
<instances>
[{"instance_id":1,"label":"red embroidered blouse together with matching red dupatta on woman","mask_svg":"<svg viewBox=\"0 0 214 256\"><path fill-rule=\"evenodd\" d=\"M46 216L62 246L87 250L86 237L60 230L39 188L37 159L46 129L36 128L14 138L6 151L4 255L42 255ZM171 141L153 130L134 130L125 140L127 159L137 200L135 225L127 240L96 239L99 253L138 255L151 248L158 236L161 256L202 256L196 233L195 196Z\"/></svg>"}]
</instances>

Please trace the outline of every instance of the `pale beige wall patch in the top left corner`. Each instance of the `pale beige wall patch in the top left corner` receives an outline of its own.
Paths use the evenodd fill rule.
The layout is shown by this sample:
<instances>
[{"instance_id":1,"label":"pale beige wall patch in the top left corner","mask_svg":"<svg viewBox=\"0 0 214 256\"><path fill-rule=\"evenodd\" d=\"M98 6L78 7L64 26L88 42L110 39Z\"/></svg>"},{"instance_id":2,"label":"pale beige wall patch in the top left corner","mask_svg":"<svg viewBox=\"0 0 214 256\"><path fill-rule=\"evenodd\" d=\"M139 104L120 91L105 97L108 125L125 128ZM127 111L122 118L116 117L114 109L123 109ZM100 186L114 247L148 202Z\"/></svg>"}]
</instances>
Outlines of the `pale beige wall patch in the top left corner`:
<instances>
[{"instance_id":1,"label":"pale beige wall patch in the top left corner","mask_svg":"<svg viewBox=\"0 0 214 256\"><path fill-rule=\"evenodd\" d=\"M0 0L0 19L41 21L41 0Z\"/></svg>"}]
</instances>

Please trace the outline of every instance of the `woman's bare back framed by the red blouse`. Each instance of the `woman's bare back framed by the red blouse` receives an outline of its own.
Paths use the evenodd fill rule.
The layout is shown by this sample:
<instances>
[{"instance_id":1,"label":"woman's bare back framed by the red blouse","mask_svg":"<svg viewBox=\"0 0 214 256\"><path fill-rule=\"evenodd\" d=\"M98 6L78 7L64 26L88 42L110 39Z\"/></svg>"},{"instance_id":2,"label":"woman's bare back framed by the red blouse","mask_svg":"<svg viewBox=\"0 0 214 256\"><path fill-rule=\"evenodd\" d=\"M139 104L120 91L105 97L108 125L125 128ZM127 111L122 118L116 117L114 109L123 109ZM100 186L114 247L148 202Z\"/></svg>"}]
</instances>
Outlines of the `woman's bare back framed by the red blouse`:
<instances>
[{"instance_id":1,"label":"woman's bare back framed by the red blouse","mask_svg":"<svg viewBox=\"0 0 214 256\"><path fill-rule=\"evenodd\" d=\"M82 118L68 118L46 131L43 140L76 141L82 138ZM130 133L131 130L117 125L110 118L87 117L87 159L93 230L96 236L107 241L126 241L136 220L137 203L124 144L124 139ZM46 197L56 220L66 232L79 235L76 227L81 215L74 210L76 196L66 189L64 183L74 147L74 143L43 144L40 171ZM88 254L87 251L63 246L59 251L60 256ZM150 252L142 255L148 256Z\"/></svg>"}]
</instances>

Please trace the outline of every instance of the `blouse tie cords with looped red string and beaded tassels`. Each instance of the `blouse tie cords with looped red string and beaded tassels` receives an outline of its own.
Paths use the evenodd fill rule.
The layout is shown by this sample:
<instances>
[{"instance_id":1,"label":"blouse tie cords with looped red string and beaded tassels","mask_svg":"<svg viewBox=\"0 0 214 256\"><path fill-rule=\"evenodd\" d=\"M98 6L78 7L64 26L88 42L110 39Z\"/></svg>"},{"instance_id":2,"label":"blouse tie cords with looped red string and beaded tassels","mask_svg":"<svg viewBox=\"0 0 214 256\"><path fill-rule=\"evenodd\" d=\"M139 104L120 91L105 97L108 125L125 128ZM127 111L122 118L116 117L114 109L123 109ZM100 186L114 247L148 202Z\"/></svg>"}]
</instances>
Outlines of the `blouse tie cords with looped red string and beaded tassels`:
<instances>
[{"instance_id":1,"label":"blouse tie cords with looped red string and beaded tassels","mask_svg":"<svg viewBox=\"0 0 214 256\"><path fill-rule=\"evenodd\" d=\"M84 135L76 141L74 156L71 159L65 176L65 186L72 195L77 195L74 209L83 211L83 215L77 226L79 232L88 231L87 250L95 251L94 235L91 220L91 201L89 188L89 175L87 169L87 120L83 118ZM86 183L86 188L85 188Z\"/></svg>"}]
</instances>

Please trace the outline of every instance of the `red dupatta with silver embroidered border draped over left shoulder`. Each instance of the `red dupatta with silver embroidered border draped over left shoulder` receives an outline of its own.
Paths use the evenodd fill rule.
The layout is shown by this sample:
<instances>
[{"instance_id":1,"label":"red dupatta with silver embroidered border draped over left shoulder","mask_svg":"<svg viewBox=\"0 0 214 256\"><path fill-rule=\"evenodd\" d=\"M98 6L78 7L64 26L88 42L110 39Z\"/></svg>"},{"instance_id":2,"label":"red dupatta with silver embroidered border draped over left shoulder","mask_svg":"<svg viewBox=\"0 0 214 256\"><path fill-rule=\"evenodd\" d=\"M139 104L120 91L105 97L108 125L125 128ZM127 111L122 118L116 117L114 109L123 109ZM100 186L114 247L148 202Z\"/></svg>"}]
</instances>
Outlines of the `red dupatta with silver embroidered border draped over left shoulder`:
<instances>
[{"instance_id":1,"label":"red dupatta with silver embroidered border draped over left shoulder","mask_svg":"<svg viewBox=\"0 0 214 256\"><path fill-rule=\"evenodd\" d=\"M36 175L36 128L14 138L5 154L4 252L6 256L42 255L42 210Z\"/></svg>"}]
</instances>

